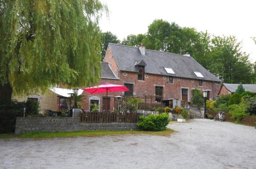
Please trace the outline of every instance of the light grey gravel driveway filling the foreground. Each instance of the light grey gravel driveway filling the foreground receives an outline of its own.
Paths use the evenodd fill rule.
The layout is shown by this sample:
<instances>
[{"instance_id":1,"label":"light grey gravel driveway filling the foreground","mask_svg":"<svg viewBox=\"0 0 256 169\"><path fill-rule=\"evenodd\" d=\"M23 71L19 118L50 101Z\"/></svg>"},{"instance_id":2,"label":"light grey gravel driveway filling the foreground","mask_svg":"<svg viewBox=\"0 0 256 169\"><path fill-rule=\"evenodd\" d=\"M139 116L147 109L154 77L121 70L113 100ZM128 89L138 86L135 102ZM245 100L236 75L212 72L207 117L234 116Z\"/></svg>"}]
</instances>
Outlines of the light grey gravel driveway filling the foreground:
<instances>
[{"instance_id":1,"label":"light grey gravel driveway filling the foreground","mask_svg":"<svg viewBox=\"0 0 256 169\"><path fill-rule=\"evenodd\" d=\"M256 129L197 119L170 137L0 139L0 168L256 168Z\"/></svg>"}]
</instances>

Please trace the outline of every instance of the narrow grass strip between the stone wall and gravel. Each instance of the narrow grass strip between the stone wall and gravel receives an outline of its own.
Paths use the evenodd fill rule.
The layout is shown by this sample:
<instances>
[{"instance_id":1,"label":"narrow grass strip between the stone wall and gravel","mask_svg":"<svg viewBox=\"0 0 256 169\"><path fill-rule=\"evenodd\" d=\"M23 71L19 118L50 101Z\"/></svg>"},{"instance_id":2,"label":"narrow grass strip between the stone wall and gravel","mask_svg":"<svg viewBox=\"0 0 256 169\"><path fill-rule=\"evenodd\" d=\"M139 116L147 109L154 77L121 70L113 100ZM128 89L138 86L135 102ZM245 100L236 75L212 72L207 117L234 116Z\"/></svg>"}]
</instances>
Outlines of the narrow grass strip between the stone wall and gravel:
<instances>
[{"instance_id":1,"label":"narrow grass strip between the stone wall and gravel","mask_svg":"<svg viewBox=\"0 0 256 169\"><path fill-rule=\"evenodd\" d=\"M95 137L104 135L128 135L128 134L148 134L148 135L158 135L158 136L170 136L175 130L165 129L162 131L139 131L139 130L129 130L129 131L73 131L73 132L31 132L24 134L0 134L0 138L61 138L61 137Z\"/></svg>"}]
</instances>

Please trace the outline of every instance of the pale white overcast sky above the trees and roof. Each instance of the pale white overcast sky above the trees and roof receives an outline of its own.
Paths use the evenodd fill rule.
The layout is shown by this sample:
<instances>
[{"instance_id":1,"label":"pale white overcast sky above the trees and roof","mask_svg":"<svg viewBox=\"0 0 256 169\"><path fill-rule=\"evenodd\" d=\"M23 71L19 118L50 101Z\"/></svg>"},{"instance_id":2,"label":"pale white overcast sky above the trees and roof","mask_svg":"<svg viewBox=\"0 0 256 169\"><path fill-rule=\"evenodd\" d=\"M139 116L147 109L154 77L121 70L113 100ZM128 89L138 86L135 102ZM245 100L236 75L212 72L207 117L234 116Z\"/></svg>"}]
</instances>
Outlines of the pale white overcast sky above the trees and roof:
<instances>
[{"instance_id":1,"label":"pale white overcast sky above the trees and roof","mask_svg":"<svg viewBox=\"0 0 256 169\"><path fill-rule=\"evenodd\" d=\"M234 35L243 41L243 51L256 61L256 1L145 1L101 0L108 5L109 18L102 17L102 32L110 31L122 40L130 34L145 34L155 19L176 22L180 26L195 27L214 35Z\"/></svg>"}]
</instances>

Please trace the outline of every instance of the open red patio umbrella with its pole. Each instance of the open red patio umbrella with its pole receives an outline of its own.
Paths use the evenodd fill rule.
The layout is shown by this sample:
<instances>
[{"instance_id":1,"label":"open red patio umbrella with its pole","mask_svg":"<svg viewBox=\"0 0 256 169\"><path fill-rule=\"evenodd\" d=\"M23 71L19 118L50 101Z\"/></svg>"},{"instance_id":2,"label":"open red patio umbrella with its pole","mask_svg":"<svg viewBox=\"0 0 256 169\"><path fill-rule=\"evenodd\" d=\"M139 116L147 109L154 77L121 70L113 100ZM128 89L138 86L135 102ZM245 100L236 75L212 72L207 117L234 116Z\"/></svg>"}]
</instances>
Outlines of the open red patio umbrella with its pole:
<instances>
[{"instance_id":1,"label":"open red patio umbrella with its pole","mask_svg":"<svg viewBox=\"0 0 256 169\"><path fill-rule=\"evenodd\" d=\"M123 85L114 85L111 83L105 83L103 85L91 87L91 88L84 88L82 89L86 92L89 92L91 94L94 93L105 93L106 92L106 98L108 99L108 92L128 92L129 89L126 88L126 86ZM106 101L106 110L108 107L108 101Z\"/></svg>"}]
</instances>

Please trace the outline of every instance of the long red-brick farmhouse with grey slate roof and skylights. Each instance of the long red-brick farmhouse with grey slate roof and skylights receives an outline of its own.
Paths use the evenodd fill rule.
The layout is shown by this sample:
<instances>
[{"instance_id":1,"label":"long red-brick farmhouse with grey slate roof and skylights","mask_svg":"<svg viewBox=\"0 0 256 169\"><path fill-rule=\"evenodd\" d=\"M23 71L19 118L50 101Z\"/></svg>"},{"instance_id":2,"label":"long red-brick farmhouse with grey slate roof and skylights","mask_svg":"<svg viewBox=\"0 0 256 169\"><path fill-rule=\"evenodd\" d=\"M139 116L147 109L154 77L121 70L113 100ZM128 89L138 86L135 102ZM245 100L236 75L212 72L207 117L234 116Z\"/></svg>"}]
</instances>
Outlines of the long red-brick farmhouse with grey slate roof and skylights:
<instances>
[{"instance_id":1,"label":"long red-brick farmhouse with grey slate roof and skylights","mask_svg":"<svg viewBox=\"0 0 256 169\"><path fill-rule=\"evenodd\" d=\"M162 106L174 106L173 100L190 103L191 91L195 88L206 90L208 99L215 99L221 88L221 80L189 54L148 50L143 45L131 47L110 43L102 65L100 84L125 85L131 92L109 93L108 99L105 93L90 95L84 92L85 110L89 111L92 103L104 110L108 101L108 109L112 111L117 96L153 96L153 101L162 102ZM146 99L146 102L152 102L152 99Z\"/></svg>"}]
</instances>

